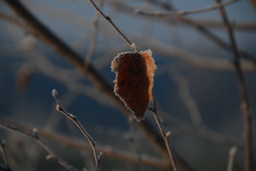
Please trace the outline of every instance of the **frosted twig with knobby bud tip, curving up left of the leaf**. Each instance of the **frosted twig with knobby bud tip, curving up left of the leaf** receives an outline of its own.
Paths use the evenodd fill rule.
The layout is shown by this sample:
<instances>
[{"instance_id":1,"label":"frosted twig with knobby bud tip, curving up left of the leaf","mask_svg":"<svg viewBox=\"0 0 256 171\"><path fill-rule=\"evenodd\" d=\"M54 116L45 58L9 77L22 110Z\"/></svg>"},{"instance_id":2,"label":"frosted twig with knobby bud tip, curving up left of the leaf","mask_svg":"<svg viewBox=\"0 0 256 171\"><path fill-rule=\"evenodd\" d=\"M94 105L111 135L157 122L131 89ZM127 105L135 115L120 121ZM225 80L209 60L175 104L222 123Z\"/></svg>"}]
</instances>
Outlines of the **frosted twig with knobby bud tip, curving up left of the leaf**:
<instances>
[{"instance_id":1,"label":"frosted twig with knobby bud tip, curving up left of the leaf","mask_svg":"<svg viewBox=\"0 0 256 171\"><path fill-rule=\"evenodd\" d=\"M99 170L99 166L100 166L100 161L103 157L102 152L98 153L97 151L97 146L96 143L93 141L92 137L90 136L89 133L87 133L87 131L85 130L85 128L83 127L83 125L80 123L80 121L76 118L76 116L74 116L73 114L67 112L61 105L59 97L58 97L58 92L56 91L56 89L52 90L52 96L54 97L57 106L56 109L57 111L63 113L67 118L69 118L71 121L73 121L74 124L76 124L76 126L80 129L80 131L84 134L84 136L86 137L86 139L89 141L90 145L92 146L92 150L93 150L93 155L94 155L94 159L95 159L95 171Z\"/></svg>"}]
</instances>

